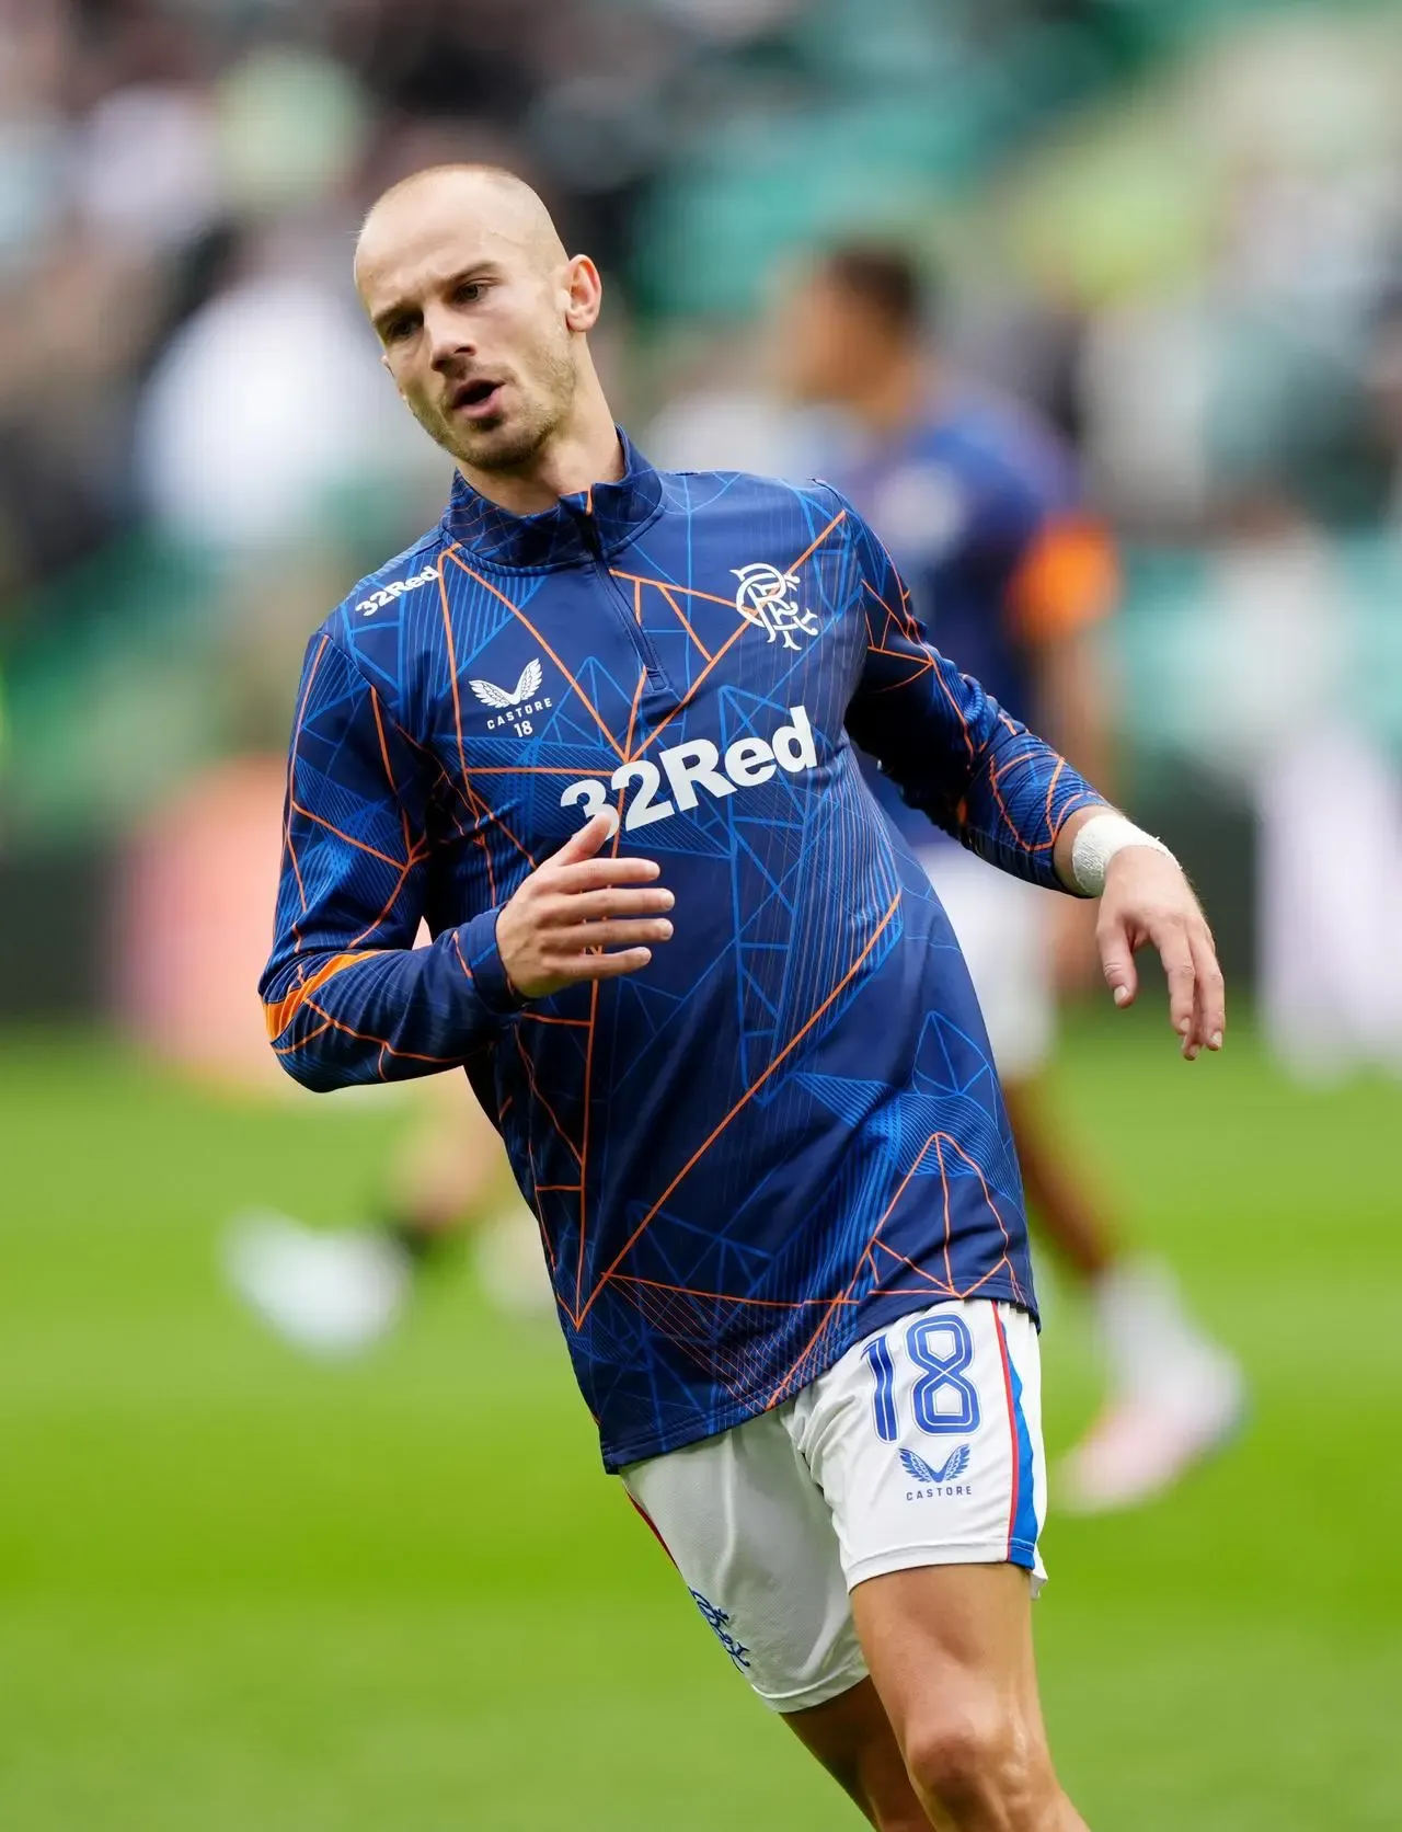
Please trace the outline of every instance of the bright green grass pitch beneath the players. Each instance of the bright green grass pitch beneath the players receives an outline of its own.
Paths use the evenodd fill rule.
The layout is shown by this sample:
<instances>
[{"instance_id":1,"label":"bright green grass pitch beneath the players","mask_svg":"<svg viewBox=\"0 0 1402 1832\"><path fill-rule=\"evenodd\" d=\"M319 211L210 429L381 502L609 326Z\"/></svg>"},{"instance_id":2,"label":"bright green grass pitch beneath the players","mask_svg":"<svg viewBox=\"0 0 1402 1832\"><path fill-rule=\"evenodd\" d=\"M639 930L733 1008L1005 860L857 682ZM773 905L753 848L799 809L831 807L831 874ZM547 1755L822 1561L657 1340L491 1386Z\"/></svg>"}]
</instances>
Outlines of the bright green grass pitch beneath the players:
<instances>
[{"instance_id":1,"label":"bright green grass pitch beneath the players","mask_svg":"<svg viewBox=\"0 0 1402 1832\"><path fill-rule=\"evenodd\" d=\"M1047 1532L1043 1689L1096 1828L1402 1825L1402 1094L1248 1037L1080 1028L1074 1129L1254 1383L1160 1506ZM357 1211L392 1099L267 1110L101 1042L0 1050L0 1825L9 1832L824 1832L599 1473L551 1328L465 1271L355 1367L225 1295L240 1204ZM1049 1438L1095 1398L1049 1304Z\"/></svg>"}]
</instances>

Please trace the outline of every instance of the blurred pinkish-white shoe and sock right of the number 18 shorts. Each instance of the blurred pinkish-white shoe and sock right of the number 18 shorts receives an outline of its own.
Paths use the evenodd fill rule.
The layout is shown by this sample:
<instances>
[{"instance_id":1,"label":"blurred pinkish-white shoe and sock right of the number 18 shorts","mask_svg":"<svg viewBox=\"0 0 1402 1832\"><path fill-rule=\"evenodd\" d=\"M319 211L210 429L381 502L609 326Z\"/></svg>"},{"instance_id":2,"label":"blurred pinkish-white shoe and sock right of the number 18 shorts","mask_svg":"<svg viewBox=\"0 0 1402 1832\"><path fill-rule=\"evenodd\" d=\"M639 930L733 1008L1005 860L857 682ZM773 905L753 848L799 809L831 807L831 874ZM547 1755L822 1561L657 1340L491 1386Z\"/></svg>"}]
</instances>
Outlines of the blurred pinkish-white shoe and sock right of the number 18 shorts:
<instances>
[{"instance_id":1,"label":"blurred pinkish-white shoe and sock right of the number 18 shorts","mask_svg":"<svg viewBox=\"0 0 1402 1832\"><path fill-rule=\"evenodd\" d=\"M1116 1268L1093 1293L1115 1398L1063 1458L1052 1499L1067 1513L1137 1508L1241 1429L1246 1381L1182 1310L1153 1264Z\"/></svg>"}]
</instances>

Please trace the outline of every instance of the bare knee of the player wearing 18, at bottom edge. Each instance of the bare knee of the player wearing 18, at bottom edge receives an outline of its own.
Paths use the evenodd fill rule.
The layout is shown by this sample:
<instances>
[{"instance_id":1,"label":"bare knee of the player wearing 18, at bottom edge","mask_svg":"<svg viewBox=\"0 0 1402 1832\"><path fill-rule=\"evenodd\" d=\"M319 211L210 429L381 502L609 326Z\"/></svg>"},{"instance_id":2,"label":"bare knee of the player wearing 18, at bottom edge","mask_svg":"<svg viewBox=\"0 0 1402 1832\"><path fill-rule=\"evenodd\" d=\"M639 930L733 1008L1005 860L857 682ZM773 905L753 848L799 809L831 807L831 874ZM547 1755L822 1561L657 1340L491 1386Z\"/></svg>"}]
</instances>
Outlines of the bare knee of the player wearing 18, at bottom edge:
<instances>
[{"instance_id":1,"label":"bare knee of the player wearing 18, at bottom edge","mask_svg":"<svg viewBox=\"0 0 1402 1832\"><path fill-rule=\"evenodd\" d=\"M1016 1713L992 1702L932 1713L911 1729L904 1755L921 1799L955 1827L1032 1832L1054 1795L1045 1750Z\"/></svg>"}]
</instances>

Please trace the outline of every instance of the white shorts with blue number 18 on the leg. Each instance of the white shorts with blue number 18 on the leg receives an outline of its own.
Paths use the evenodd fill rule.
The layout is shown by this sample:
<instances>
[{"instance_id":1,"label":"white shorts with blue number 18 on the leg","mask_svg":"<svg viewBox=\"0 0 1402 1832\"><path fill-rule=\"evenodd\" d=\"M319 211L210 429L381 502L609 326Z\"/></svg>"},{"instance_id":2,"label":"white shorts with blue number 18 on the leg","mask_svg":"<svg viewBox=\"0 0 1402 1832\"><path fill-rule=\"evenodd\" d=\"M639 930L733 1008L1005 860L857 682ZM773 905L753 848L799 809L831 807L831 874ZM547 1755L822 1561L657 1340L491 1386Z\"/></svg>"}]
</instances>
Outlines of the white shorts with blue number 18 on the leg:
<instances>
[{"instance_id":1,"label":"white shorts with blue number 18 on the leg","mask_svg":"<svg viewBox=\"0 0 1402 1832\"><path fill-rule=\"evenodd\" d=\"M857 1343L793 1400L666 1456L628 1493L774 1711L866 1678L847 1592L922 1565L1045 1570L1032 1319L952 1299Z\"/></svg>"}]
</instances>

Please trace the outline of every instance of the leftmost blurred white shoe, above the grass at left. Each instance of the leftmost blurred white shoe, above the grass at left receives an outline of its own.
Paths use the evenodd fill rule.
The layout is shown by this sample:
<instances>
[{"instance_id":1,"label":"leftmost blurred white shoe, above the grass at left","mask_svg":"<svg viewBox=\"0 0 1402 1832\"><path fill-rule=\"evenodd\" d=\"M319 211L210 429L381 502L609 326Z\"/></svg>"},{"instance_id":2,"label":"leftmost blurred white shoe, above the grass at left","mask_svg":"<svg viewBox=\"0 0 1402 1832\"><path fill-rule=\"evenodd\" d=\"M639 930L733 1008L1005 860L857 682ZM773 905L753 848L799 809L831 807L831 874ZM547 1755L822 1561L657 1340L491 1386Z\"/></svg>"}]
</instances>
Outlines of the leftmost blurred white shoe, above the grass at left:
<instances>
[{"instance_id":1,"label":"leftmost blurred white shoe, above the grass at left","mask_svg":"<svg viewBox=\"0 0 1402 1832\"><path fill-rule=\"evenodd\" d=\"M240 1297L313 1356L353 1356L390 1334L414 1268L375 1229L324 1233L269 1209L240 1215L223 1264Z\"/></svg>"}]
</instances>

